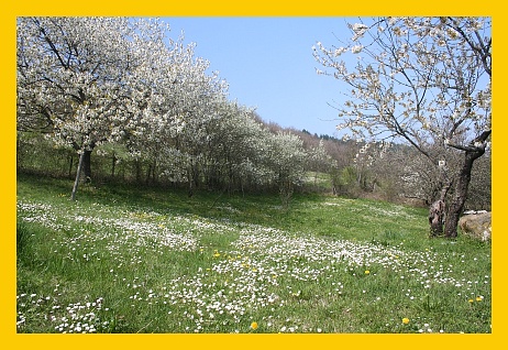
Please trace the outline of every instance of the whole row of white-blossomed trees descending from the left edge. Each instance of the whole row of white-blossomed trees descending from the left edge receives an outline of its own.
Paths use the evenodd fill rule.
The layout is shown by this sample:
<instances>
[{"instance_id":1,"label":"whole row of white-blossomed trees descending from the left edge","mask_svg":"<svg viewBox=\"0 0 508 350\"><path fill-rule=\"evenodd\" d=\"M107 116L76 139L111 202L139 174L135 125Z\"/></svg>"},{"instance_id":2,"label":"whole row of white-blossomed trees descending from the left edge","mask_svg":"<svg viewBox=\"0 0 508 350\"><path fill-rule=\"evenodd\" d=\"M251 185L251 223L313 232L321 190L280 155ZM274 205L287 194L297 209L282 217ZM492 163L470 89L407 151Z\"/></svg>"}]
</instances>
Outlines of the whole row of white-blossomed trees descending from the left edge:
<instances>
[{"instance_id":1,"label":"whole row of white-blossomed trees descending from the left edge","mask_svg":"<svg viewBox=\"0 0 508 350\"><path fill-rule=\"evenodd\" d=\"M194 44L168 32L147 19L20 18L19 131L80 154L73 199L81 169L92 176L95 150L148 164L153 178L186 183L189 195L205 184L276 187L288 198L324 152L230 101Z\"/></svg>"}]
</instances>

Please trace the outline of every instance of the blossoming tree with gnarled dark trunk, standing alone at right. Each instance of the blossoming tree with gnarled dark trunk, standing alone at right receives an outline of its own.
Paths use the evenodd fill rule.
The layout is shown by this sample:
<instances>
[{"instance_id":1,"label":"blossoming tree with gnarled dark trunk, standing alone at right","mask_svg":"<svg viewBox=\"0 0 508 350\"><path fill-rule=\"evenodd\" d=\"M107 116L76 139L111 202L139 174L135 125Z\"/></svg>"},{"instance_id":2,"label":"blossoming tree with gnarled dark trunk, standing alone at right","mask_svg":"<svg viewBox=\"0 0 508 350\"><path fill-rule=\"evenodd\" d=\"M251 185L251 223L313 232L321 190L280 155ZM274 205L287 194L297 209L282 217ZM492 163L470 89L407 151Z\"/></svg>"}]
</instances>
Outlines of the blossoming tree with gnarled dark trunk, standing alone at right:
<instances>
[{"instance_id":1,"label":"blossoming tree with gnarled dark trunk, standing alone at right","mask_svg":"<svg viewBox=\"0 0 508 350\"><path fill-rule=\"evenodd\" d=\"M379 18L349 29L342 46L313 47L325 68L318 73L347 89L338 129L365 142L404 141L429 158L442 177L442 212L430 218L431 231L440 234L444 223L445 236L455 237L473 163L490 143L490 19ZM457 152L462 162L452 173L448 161Z\"/></svg>"}]
</instances>

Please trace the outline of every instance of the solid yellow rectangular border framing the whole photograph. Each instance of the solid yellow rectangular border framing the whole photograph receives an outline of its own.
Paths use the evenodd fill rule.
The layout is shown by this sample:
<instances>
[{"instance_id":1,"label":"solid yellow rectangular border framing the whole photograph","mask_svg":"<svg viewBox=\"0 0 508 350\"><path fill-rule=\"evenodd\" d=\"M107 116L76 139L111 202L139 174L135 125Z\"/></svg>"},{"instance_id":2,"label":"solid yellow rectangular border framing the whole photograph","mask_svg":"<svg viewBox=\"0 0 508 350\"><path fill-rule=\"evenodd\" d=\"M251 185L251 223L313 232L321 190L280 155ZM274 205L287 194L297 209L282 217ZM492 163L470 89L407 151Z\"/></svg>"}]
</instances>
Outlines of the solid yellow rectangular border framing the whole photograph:
<instances>
[{"instance_id":1,"label":"solid yellow rectangular border framing the whole photograph","mask_svg":"<svg viewBox=\"0 0 508 350\"><path fill-rule=\"evenodd\" d=\"M367 348L410 349L419 347L481 349L504 342L506 321L503 299L503 248L506 247L503 227L505 219L497 215L503 210L506 190L503 186L503 155L505 145L495 142L493 151L493 333L490 335L18 335L15 332L15 19L21 15L137 15L137 17L357 17L357 15L486 15L493 18L495 36L496 75L494 88L494 124L498 130L493 140L501 139L505 129L504 103L501 97L505 85L506 67L501 63L506 35L503 28L505 11L500 2L470 0L424 0L409 1L2 1L0 14L1 64L1 112L0 164L1 172L1 234L0 259L2 278L0 283L0 337L5 349L25 349L52 347L73 349L147 349L162 348L223 348L241 349L265 348ZM7 2L7 3L5 3ZM501 20L503 19L503 20ZM507 31L508 32L508 31ZM498 64L499 63L499 64ZM503 95L501 95L503 94Z\"/></svg>"}]
</instances>

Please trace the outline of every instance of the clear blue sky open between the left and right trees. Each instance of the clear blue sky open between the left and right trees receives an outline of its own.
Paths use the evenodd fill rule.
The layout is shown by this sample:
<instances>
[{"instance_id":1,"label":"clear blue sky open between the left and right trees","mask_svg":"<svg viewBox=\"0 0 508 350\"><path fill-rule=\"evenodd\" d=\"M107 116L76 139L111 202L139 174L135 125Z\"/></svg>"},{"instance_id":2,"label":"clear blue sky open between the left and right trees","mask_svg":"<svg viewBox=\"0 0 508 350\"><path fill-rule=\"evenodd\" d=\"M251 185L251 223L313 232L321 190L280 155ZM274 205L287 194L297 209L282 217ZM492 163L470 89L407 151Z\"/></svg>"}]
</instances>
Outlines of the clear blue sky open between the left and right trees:
<instances>
[{"instance_id":1,"label":"clear blue sky open between the left and right trees","mask_svg":"<svg viewBox=\"0 0 508 350\"><path fill-rule=\"evenodd\" d=\"M229 83L230 99L256 107L265 121L335 135L340 81L317 75L312 45L340 45L344 18L165 18L173 39L197 44ZM335 37L336 36L336 37Z\"/></svg>"}]
</instances>

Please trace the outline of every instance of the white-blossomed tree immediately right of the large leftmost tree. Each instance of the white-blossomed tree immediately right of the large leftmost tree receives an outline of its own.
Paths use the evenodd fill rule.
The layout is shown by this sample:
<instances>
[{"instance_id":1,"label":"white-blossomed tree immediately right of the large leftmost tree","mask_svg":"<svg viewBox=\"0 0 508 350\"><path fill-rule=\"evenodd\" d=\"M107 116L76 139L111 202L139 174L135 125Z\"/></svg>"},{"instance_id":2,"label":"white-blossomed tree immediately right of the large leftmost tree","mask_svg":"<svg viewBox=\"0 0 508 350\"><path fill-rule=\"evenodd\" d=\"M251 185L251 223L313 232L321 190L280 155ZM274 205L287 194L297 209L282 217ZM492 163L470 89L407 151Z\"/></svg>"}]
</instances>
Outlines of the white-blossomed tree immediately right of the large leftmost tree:
<instances>
[{"instance_id":1,"label":"white-blossomed tree immediately right of the large leftmost tree","mask_svg":"<svg viewBox=\"0 0 508 350\"><path fill-rule=\"evenodd\" d=\"M217 73L207 74L209 63L195 57L195 44L183 37L169 45L161 43L154 54L151 41L135 91L135 118L125 128L124 142L135 158L153 163L166 177L185 181L191 187L197 163L207 146L210 123L222 118L227 85ZM133 108L133 110L136 110Z\"/></svg>"}]
</instances>

